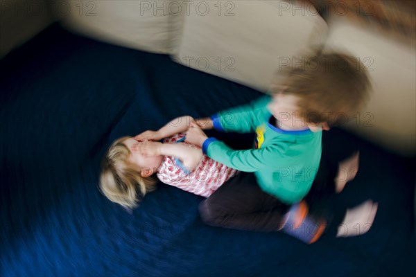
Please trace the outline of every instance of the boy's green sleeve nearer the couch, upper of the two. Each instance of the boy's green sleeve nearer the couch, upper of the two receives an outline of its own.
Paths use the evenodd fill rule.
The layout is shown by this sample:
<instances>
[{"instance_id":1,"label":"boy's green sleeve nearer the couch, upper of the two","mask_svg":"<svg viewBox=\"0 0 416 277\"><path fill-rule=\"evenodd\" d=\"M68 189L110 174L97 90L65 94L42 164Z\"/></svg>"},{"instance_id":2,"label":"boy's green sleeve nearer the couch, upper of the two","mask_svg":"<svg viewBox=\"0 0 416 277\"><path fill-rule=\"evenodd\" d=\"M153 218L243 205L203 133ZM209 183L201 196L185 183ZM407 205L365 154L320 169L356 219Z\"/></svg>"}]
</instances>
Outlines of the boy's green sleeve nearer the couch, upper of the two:
<instances>
[{"instance_id":1,"label":"boy's green sleeve nearer the couch, upper of the two","mask_svg":"<svg viewBox=\"0 0 416 277\"><path fill-rule=\"evenodd\" d=\"M225 132L254 132L256 127L266 120L266 116L269 114L266 106L270 100L270 96L261 96L248 105L220 111L216 115L220 126L216 127L216 129Z\"/></svg>"}]
</instances>

